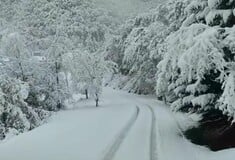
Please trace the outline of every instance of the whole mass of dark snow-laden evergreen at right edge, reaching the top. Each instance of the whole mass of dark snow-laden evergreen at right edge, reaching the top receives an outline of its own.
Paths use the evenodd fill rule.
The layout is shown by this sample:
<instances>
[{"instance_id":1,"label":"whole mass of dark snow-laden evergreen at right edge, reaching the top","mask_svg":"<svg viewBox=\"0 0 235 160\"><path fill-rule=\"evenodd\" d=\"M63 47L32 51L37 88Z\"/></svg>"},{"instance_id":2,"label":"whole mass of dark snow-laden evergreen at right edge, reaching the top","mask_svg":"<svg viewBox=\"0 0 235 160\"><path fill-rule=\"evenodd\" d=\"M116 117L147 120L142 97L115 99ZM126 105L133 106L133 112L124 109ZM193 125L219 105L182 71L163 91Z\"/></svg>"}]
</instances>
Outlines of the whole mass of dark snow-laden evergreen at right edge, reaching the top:
<instances>
[{"instance_id":1,"label":"whole mass of dark snow-laden evergreen at right edge, reaching the top","mask_svg":"<svg viewBox=\"0 0 235 160\"><path fill-rule=\"evenodd\" d=\"M174 110L221 110L234 118L234 1L191 1L182 27L165 41L157 95Z\"/></svg>"}]
</instances>

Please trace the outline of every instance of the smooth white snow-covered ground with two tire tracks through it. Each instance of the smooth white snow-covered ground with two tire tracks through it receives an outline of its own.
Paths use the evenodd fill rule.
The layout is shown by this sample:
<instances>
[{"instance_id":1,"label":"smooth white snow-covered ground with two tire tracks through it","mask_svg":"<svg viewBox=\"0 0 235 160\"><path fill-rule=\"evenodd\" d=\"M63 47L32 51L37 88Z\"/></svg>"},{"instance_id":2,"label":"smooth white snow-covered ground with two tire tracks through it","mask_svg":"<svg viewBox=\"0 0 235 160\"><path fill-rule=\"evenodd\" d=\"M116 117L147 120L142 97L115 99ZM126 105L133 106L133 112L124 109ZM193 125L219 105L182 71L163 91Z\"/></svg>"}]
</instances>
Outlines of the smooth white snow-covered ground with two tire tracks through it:
<instances>
[{"instance_id":1,"label":"smooth white snow-covered ground with two tire tracks through it","mask_svg":"<svg viewBox=\"0 0 235 160\"><path fill-rule=\"evenodd\" d=\"M0 160L234 159L234 149L215 153L190 143L178 117L154 97L105 88L100 107L83 100L2 142Z\"/></svg>"}]
</instances>

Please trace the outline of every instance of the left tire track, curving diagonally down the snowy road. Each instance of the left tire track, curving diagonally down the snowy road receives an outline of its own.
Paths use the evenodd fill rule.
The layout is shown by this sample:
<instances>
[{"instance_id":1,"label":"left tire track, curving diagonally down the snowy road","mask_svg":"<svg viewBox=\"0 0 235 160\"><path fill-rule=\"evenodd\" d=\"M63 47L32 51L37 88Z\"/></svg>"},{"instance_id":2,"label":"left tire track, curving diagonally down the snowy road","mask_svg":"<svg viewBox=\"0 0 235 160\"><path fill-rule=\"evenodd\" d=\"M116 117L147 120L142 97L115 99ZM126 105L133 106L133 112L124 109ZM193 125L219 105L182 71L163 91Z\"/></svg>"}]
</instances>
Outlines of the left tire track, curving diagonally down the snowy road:
<instances>
[{"instance_id":1,"label":"left tire track, curving diagonally down the snowy road","mask_svg":"<svg viewBox=\"0 0 235 160\"><path fill-rule=\"evenodd\" d=\"M113 144L110 146L108 151L105 153L104 157L102 160L111 160L113 159L115 153L119 149L120 145L122 144L123 140L127 136L128 132L136 122L138 116L139 116L139 111L140 108L136 106L136 112L135 114L131 117L131 119L128 121L128 123L125 125L125 127L121 130L121 132L117 135L117 138L113 142Z\"/></svg>"}]
</instances>

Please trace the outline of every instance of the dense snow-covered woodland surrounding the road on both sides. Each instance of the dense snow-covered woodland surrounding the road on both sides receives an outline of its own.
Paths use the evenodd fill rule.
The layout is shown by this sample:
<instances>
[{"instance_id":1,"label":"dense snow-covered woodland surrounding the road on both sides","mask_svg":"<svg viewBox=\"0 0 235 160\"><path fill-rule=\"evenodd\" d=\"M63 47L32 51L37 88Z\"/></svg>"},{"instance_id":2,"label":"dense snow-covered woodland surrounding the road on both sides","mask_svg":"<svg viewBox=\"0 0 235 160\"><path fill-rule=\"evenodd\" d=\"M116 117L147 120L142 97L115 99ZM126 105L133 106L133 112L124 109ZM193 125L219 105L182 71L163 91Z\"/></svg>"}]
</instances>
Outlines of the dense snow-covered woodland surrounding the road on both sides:
<instances>
[{"instance_id":1,"label":"dense snow-covered woodland surrounding the road on both sides","mask_svg":"<svg viewBox=\"0 0 235 160\"><path fill-rule=\"evenodd\" d=\"M204 130L233 131L234 0L168 0L128 18L91 0L0 8L0 139L41 125L74 93L98 105L107 74L106 85L202 115Z\"/></svg>"}]
</instances>

